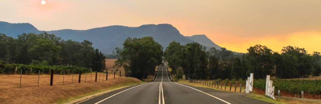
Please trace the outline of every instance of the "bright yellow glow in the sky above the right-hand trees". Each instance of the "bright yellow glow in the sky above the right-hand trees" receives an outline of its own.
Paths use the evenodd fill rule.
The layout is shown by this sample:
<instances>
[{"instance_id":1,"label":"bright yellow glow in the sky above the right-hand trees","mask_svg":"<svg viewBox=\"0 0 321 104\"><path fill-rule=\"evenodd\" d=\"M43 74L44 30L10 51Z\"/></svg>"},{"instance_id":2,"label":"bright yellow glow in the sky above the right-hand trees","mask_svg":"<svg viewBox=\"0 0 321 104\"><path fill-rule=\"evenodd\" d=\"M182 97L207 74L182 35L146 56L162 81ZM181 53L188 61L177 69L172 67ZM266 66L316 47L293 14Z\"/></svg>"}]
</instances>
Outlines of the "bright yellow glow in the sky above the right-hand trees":
<instances>
[{"instance_id":1,"label":"bright yellow glow in the sky above the right-hand trees","mask_svg":"<svg viewBox=\"0 0 321 104\"><path fill-rule=\"evenodd\" d=\"M243 42L239 42L242 40ZM305 48L309 54L321 52L321 32L296 32L284 36L265 36L256 38L234 38L219 45L231 51L247 53L247 49L254 45L265 45L274 52L281 52L284 46Z\"/></svg>"}]
</instances>

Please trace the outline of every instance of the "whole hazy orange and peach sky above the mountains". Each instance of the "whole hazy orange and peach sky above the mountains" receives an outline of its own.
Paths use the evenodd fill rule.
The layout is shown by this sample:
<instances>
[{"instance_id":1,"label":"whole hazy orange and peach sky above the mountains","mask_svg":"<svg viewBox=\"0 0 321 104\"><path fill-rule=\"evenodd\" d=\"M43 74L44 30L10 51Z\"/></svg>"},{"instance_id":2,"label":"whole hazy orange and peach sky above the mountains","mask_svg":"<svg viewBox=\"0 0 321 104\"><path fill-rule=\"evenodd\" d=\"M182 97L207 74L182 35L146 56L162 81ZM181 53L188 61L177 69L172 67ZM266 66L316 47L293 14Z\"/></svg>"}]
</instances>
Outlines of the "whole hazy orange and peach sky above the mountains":
<instances>
[{"instance_id":1,"label":"whole hazy orange and peach sky above the mountains","mask_svg":"<svg viewBox=\"0 0 321 104\"><path fill-rule=\"evenodd\" d=\"M257 44L275 52L321 52L321 0L0 0L0 21L43 31L109 25L172 24L236 52Z\"/></svg>"}]
</instances>

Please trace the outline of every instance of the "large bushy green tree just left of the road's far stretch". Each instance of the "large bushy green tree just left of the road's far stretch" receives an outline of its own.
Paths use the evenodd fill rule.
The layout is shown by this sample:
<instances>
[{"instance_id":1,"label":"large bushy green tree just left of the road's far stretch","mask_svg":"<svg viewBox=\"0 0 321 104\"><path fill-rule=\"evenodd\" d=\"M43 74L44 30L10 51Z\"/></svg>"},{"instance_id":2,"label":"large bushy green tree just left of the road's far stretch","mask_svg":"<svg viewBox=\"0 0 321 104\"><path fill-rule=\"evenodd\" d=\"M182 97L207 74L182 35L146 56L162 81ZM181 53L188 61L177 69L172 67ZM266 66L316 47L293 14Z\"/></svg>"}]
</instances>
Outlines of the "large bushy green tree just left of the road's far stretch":
<instances>
[{"instance_id":1,"label":"large bushy green tree just left of the road's far stretch","mask_svg":"<svg viewBox=\"0 0 321 104\"><path fill-rule=\"evenodd\" d=\"M126 76L147 78L154 74L155 66L161 64L163 47L152 37L127 38L123 46L123 49L116 48L119 59L115 66L123 66Z\"/></svg>"}]
</instances>

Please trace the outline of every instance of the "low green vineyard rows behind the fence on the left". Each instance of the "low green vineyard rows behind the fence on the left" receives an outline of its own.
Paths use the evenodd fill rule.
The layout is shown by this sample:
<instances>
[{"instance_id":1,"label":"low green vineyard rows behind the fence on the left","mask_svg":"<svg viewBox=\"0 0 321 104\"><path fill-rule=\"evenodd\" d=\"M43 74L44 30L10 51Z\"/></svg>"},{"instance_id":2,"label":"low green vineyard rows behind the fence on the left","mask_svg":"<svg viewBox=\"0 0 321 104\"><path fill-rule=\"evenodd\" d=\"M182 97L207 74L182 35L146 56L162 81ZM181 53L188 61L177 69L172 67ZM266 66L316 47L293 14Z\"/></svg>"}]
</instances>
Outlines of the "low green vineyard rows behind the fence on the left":
<instances>
[{"instance_id":1,"label":"low green vineyard rows behind the fence on the left","mask_svg":"<svg viewBox=\"0 0 321 104\"><path fill-rule=\"evenodd\" d=\"M76 67L76 66L39 66L39 65L23 65L23 64L6 64L4 62L0 62L0 73L3 74L13 74L17 67L17 73L22 74L32 74L32 73L49 73L50 69L54 70L54 73L61 74L62 72L66 73L85 73L90 72L89 68L85 67Z\"/></svg>"}]
</instances>

